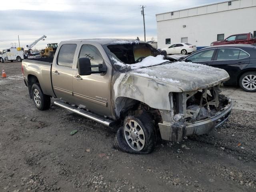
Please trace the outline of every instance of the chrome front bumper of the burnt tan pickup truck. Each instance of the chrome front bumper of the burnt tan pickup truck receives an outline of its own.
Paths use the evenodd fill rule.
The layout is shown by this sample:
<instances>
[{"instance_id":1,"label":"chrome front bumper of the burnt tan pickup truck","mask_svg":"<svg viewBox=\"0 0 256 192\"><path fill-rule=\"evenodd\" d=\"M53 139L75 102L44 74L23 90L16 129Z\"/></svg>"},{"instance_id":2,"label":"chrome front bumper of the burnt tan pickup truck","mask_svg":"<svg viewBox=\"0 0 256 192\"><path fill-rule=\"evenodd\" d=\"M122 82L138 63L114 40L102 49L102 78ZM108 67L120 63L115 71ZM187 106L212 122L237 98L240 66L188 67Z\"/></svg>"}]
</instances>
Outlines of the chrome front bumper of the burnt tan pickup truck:
<instances>
[{"instance_id":1,"label":"chrome front bumper of the burnt tan pickup truck","mask_svg":"<svg viewBox=\"0 0 256 192\"><path fill-rule=\"evenodd\" d=\"M159 123L160 134L163 140L182 141L185 136L202 135L210 132L226 122L231 114L233 102L228 99L228 105L222 108L215 116L193 123L163 122Z\"/></svg>"}]
</instances>

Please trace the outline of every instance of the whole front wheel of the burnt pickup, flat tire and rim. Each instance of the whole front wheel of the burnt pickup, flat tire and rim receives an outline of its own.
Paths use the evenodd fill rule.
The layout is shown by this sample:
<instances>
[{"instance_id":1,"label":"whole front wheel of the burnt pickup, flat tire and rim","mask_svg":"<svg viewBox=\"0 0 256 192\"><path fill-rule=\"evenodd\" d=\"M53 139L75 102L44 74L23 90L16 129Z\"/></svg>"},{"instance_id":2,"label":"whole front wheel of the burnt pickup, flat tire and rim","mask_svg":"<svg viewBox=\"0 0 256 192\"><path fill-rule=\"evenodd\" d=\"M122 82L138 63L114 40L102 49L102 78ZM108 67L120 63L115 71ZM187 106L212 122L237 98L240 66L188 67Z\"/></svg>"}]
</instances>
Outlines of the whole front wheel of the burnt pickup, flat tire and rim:
<instances>
[{"instance_id":1,"label":"whole front wheel of the burnt pickup, flat tire and rim","mask_svg":"<svg viewBox=\"0 0 256 192\"><path fill-rule=\"evenodd\" d=\"M146 112L136 117L126 117L114 139L114 148L132 154L148 154L155 145L156 131Z\"/></svg>"}]
</instances>

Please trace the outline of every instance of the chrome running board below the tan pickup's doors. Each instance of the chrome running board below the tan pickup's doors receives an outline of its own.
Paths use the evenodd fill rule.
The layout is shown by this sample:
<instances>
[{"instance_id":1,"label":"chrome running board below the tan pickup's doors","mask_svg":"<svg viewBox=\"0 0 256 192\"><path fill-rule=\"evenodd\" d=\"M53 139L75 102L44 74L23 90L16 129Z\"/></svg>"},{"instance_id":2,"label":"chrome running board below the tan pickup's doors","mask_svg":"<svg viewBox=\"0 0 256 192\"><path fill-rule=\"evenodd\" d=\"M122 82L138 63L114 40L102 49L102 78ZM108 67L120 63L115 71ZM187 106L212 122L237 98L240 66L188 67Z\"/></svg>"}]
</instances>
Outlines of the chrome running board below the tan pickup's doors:
<instances>
[{"instance_id":1,"label":"chrome running board below the tan pickup's doors","mask_svg":"<svg viewBox=\"0 0 256 192\"><path fill-rule=\"evenodd\" d=\"M109 119L106 119L104 117L101 117L101 116L98 116L98 115L95 115L93 113L90 113L86 110L83 110L83 109L80 109L80 108L77 108L77 107L74 107L66 102L63 102L63 101L54 101L54 104L55 105L58 105L64 109L67 109L67 110L70 110L76 114L79 114L79 115L82 115L84 117L87 117L91 120L94 120L96 122L99 122L99 123L102 123L106 126L112 126L114 124L114 121L112 120L109 120Z\"/></svg>"}]
</instances>

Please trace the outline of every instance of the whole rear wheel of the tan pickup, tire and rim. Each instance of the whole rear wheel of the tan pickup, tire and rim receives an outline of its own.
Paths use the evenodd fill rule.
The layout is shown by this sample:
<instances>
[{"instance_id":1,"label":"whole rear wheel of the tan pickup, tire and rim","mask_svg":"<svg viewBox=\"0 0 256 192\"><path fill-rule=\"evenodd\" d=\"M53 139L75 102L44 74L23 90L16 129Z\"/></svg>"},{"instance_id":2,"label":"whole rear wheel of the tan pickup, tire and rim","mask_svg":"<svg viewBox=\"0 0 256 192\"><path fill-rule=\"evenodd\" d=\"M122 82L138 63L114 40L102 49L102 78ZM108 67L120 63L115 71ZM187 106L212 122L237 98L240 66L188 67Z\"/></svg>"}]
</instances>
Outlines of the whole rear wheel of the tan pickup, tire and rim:
<instances>
[{"instance_id":1,"label":"whole rear wheel of the tan pickup, tire and rim","mask_svg":"<svg viewBox=\"0 0 256 192\"><path fill-rule=\"evenodd\" d=\"M39 83L33 84L31 91L32 91L32 99L36 108L38 108L39 110L46 110L50 108L51 97L43 93ZM36 93L38 94L39 97L37 96ZM37 102L36 100L37 101L40 100L40 102Z\"/></svg>"}]
</instances>

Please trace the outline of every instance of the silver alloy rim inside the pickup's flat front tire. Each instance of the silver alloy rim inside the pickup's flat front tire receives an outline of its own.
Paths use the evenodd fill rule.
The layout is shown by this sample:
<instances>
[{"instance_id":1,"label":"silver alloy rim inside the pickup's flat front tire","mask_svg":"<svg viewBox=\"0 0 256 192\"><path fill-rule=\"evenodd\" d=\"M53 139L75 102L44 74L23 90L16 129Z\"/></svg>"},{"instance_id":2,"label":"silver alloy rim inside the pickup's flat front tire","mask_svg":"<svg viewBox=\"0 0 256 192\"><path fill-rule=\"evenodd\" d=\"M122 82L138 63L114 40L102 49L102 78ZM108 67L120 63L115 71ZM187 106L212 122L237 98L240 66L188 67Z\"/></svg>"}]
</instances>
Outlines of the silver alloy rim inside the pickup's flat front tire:
<instances>
[{"instance_id":1,"label":"silver alloy rim inside the pickup's flat front tire","mask_svg":"<svg viewBox=\"0 0 256 192\"><path fill-rule=\"evenodd\" d=\"M142 127L136 120L128 120L124 124L124 136L129 146L136 151L140 151L145 145L145 135Z\"/></svg>"}]
</instances>

